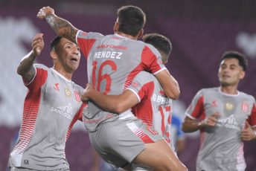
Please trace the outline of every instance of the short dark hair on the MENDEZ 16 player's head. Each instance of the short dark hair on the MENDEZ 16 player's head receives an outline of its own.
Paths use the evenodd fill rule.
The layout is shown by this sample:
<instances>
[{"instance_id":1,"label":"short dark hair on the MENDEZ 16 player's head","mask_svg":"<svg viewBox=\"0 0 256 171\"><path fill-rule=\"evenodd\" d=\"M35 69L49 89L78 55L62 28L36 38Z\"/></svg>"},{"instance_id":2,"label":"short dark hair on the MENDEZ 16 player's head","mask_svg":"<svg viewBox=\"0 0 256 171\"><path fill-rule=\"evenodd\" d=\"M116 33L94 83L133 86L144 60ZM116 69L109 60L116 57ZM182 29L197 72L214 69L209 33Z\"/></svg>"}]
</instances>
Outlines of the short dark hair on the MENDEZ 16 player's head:
<instances>
[{"instance_id":1,"label":"short dark hair on the MENDEZ 16 player's head","mask_svg":"<svg viewBox=\"0 0 256 171\"><path fill-rule=\"evenodd\" d=\"M138 36L145 22L146 15L139 7L128 5L118 9L118 31L122 33Z\"/></svg>"}]
</instances>

